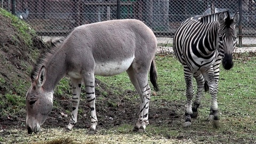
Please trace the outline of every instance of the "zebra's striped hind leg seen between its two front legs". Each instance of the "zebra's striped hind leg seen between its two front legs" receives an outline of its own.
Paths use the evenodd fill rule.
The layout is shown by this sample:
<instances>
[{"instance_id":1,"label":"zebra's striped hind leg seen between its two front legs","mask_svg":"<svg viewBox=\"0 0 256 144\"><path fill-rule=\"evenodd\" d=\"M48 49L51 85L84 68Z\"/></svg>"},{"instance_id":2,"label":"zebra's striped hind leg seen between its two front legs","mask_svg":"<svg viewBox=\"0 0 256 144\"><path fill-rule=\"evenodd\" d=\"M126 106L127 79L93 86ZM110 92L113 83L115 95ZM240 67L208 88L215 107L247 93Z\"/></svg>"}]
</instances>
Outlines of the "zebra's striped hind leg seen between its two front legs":
<instances>
[{"instance_id":1,"label":"zebra's striped hind leg seen between its two front legs","mask_svg":"<svg viewBox=\"0 0 256 144\"><path fill-rule=\"evenodd\" d=\"M196 118L198 115L197 108L200 105L202 91L204 89L204 76L201 74L201 71L197 71L196 73L194 73L194 77L197 83L197 93L192 106L193 114L191 115L191 118Z\"/></svg>"}]
</instances>

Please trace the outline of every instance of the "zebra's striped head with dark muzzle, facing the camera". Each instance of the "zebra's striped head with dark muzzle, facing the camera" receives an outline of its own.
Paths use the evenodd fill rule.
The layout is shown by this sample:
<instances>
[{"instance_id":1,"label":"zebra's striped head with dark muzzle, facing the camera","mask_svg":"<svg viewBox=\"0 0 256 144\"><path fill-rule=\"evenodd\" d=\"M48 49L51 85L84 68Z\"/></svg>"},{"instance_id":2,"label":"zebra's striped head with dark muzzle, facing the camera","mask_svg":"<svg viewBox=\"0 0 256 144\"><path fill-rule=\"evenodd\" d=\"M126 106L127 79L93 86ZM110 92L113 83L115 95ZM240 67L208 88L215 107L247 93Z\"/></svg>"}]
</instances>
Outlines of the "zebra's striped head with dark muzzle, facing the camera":
<instances>
[{"instance_id":1,"label":"zebra's striped head with dark muzzle, facing the camera","mask_svg":"<svg viewBox=\"0 0 256 144\"><path fill-rule=\"evenodd\" d=\"M235 25L239 21L239 14L236 13L230 18L229 12L219 14L219 51L222 57L222 65L229 70L233 67L233 52L236 46Z\"/></svg>"}]
</instances>

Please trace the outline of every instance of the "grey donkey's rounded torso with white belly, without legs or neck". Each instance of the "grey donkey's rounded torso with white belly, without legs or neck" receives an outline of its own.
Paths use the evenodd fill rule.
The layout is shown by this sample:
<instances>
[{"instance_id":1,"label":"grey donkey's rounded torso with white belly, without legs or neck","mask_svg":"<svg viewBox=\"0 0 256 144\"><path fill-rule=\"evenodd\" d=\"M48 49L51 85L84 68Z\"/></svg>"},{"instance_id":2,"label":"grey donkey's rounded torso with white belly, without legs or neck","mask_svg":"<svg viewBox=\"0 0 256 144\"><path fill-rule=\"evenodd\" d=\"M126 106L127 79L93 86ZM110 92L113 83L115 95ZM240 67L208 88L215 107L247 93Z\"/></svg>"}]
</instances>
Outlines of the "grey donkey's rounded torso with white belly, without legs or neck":
<instances>
[{"instance_id":1,"label":"grey donkey's rounded torso with white belly, without legs or neck","mask_svg":"<svg viewBox=\"0 0 256 144\"><path fill-rule=\"evenodd\" d=\"M62 49L68 53L69 65L82 68L71 70L69 75L88 69L91 63L94 75L112 76L127 70L134 59L148 61L149 68L156 47L156 37L149 27L139 20L126 19L76 27Z\"/></svg>"}]
</instances>

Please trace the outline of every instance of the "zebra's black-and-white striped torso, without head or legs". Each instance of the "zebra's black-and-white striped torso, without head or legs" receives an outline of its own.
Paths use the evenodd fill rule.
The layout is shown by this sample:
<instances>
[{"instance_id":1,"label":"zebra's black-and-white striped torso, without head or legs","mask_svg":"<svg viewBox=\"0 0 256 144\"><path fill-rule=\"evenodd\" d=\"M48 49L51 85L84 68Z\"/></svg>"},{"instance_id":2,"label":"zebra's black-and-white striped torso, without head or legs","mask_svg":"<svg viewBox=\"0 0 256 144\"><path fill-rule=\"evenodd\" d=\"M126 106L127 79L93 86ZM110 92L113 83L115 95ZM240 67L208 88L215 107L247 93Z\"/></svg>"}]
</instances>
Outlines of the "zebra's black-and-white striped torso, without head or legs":
<instances>
[{"instance_id":1,"label":"zebra's black-and-white striped torso, without head or legs","mask_svg":"<svg viewBox=\"0 0 256 144\"><path fill-rule=\"evenodd\" d=\"M218 23L215 21L208 23L198 19L184 21L173 38L173 49L178 60L195 70L212 65L217 54L213 52L217 46L215 40L217 26Z\"/></svg>"}]
</instances>

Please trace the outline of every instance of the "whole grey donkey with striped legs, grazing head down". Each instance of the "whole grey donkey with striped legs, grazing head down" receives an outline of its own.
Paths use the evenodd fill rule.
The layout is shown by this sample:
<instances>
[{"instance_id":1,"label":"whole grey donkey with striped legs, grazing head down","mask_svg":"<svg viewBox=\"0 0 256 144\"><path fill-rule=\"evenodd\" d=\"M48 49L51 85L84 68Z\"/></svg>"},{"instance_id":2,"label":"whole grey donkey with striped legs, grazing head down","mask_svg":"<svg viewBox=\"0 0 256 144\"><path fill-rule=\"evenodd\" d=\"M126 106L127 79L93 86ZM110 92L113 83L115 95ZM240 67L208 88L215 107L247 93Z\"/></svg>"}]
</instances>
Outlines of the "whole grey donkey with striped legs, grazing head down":
<instances>
[{"instance_id":1,"label":"whole grey donkey with striped legs, grazing head down","mask_svg":"<svg viewBox=\"0 0 256 144\"><path fill-rule=\"evenodd\" d=\"M138 122L133 131L144 132L148 122L150 82L158 89L155 65L157 41L153 31L134 19L110 20L74 28L67 38L38 58L31 72L31 86L26 95L28 133L37 133L52 110L55 86L64 76L70 77L72 116L67 130L77 123L82 79L89 102L91 126L96 132L94 75L114 76L124 71L140 95ZM149 70L150 69L150 70Z\"/></svg>"}]
</instances>

